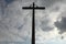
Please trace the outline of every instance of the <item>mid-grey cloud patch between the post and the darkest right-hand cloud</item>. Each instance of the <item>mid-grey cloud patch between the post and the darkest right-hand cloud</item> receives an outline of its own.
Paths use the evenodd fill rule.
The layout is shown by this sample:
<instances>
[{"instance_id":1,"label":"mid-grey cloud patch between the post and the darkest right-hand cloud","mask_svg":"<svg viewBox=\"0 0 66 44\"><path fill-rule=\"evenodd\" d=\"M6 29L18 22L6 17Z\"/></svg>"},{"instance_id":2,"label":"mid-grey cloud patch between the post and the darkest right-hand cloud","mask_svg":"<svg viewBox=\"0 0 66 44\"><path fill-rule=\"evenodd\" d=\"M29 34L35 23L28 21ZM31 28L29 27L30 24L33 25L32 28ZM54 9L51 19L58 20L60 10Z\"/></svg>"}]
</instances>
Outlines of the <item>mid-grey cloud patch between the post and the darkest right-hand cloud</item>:
<instances>
[{"instance_id":1,"label":"mid-grey cloud patch between the post and the darkest right-hand cloud","mask_svg":"<svg viewBox=\"0 0 66 44\"><path fill-rule=\"evenodd\" d=\"M41 26L41 29L43 31L51 31L51 30L53 30L53 28L48 25L48 22L50 22L50 19L45 19L45 20L41 21L41 25L40 26Z\"/></svg>"}]
</instances>

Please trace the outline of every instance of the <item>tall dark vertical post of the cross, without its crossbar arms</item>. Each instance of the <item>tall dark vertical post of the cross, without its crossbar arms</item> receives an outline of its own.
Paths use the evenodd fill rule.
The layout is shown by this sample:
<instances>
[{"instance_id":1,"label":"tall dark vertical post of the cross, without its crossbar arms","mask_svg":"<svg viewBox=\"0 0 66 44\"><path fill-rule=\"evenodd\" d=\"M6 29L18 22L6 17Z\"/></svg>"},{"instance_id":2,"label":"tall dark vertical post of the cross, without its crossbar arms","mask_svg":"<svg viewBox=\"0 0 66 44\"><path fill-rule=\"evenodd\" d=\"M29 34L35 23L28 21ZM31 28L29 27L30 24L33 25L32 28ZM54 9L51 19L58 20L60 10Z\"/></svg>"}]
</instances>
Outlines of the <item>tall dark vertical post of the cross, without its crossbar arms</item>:
<instances>
[{"instance_id":1,"label":"tall dark vertical post of the cross, without its crossbar arms","mask_svg":"<svg viewBox=\"0 0 66 44\"><path fill-rule=\"evenodd\" d=\"M34 10L34 2L33 2L33 14L32 14L32 44L35 44L35 10Z\"/></svg>"}]
</instances>

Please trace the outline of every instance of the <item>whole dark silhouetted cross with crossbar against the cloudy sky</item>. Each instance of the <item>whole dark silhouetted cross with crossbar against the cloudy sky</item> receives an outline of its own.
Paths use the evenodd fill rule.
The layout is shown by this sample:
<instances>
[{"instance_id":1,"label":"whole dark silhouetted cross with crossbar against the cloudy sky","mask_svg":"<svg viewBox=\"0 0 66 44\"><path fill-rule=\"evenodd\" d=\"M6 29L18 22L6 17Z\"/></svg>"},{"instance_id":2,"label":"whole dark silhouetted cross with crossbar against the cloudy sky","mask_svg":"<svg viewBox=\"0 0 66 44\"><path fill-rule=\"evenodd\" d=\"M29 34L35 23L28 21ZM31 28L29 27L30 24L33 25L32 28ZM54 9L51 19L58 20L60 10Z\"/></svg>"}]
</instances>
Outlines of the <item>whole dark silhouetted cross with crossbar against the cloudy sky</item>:
<instances>
[{"instance_id":1,"label":"whole dark silhouetted cross with crossbar against the cloudy sky","mask_svg":"<svg viewBox=\"0 0 66 44\"><path fill-rule=\"evenodd\" d=\"M35 10L44 10L45 7L35 7L35 3L33 2L32 7L23 7L22 9L33 10L33 13L32 13L32 44L35 44Z\"/></svg>"}]
</instances>

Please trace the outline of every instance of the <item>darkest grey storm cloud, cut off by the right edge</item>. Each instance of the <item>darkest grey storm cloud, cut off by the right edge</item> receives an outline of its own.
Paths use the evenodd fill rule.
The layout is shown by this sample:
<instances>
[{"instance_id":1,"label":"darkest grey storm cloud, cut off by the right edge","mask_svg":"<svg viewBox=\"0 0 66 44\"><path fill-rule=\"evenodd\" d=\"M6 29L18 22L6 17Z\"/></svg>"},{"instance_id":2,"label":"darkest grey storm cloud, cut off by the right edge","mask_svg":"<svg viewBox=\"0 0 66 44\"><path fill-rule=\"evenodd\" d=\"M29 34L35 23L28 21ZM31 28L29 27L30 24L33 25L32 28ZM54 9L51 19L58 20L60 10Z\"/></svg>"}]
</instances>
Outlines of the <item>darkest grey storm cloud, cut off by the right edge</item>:
<instances>
[{"instance_id":1,"label":"darkest grey storm cloud, cut off by the right edge","mask_svg":"<svg viewBox=\"0 0 66 44\"><path fill-rule=\"evenodd\" d=\"M62 18L62 21L56 21L55 26L61 31L59 33L66 32L66 18Z\"/></svg>"}]
</instances>

